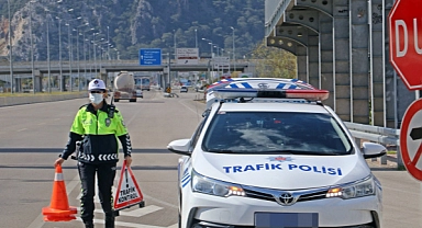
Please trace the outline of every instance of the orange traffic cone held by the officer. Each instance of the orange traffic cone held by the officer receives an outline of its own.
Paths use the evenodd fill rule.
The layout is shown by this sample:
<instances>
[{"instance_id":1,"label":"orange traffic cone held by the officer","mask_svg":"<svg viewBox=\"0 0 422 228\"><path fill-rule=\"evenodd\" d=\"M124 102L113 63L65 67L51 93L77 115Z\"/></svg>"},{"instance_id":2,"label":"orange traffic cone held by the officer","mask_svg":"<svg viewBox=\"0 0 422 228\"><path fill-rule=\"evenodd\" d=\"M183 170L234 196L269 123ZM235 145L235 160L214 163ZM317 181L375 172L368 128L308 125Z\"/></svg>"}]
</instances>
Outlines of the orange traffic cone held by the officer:
<instances>
[{"instance_id":1,"label":"orange traffic cone held by the officer","mask_svg":"<svg viewBox=\"0 0 422 228\"><path fill-rule=\"evenodd\" d=\"M43 207L45 221L69 221L76 219L76 207L69 207L65 181L63 180L62 166L56 166L53 194L49 207Z\"/></svg>"}]
</instances>

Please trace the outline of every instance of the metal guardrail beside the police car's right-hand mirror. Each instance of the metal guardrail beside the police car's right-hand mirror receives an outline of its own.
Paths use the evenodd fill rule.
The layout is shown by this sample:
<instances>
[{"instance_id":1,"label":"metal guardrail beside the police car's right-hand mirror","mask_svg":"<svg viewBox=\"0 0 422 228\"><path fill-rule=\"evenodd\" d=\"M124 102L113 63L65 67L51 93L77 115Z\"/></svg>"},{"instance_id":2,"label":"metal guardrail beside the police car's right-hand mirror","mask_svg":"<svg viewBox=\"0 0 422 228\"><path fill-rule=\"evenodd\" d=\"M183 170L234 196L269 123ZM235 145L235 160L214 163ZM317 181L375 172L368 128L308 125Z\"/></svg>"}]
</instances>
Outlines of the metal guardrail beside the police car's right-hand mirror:
<instances>
[{"instance_id":1,"label":"metal guardrail beside the police car's right-hand mirror","mask_svg":"<svg viewBox=\"0 0 422 228\"><path fill-rule=\"evenodd\" d=\"M381 144L384 146L396 146L397 147L397 166L398 168L403 167L403 161L400 156L400 129L378 127L365 124L356 123L344 123L349 129L356 142L359 145L360 140L369 140L373 142ZM374 158L373 160L377 160ZM381 164L387 164L387 155L380 158Z\"/></svg>"}]
</instances>

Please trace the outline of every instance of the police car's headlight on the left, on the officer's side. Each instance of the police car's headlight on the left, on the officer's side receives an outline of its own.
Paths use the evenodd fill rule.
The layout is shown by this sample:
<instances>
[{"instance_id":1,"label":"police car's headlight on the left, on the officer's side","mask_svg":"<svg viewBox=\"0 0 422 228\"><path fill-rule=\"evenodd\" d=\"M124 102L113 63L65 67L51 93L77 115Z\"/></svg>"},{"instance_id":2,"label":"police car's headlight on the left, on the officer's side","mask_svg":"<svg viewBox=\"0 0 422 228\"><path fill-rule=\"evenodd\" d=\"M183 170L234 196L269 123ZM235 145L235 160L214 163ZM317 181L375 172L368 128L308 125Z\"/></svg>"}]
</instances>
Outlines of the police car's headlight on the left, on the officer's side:
<instances>
[{"instance_id":1,"label":"police car's headlight on the left, on the officer's side","mask_svg":"<svg viewBox=\"0 0 422 228\"><path fill-rule=\"evenodd\" d=\"M192 171L193 192L229 197L232 195L245 196L245 192L240 185L213 180Z\"/></svg>"}]
</instances>

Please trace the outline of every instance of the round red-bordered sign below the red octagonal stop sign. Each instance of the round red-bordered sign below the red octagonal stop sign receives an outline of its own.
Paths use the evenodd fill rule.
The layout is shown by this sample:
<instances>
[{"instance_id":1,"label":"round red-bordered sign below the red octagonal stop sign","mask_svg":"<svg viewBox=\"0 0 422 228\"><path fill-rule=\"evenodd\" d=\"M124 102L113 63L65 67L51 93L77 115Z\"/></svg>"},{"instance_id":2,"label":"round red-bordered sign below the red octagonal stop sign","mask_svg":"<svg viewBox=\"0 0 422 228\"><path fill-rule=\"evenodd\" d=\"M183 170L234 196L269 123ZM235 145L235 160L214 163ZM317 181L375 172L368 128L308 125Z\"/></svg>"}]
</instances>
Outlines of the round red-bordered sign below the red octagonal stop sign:
<instances>
[{"instance_id":1,"label":"round red-bordered sign below the red octagonal stop sign","mask_svg":"<svg viewBox=\"0 0 422 228\"><path fill-rule=\"evenodd\" d=\"M404 113L400 130L400 152L408 172L422 181L422 99Z\"/></svg>"}]
</instances>

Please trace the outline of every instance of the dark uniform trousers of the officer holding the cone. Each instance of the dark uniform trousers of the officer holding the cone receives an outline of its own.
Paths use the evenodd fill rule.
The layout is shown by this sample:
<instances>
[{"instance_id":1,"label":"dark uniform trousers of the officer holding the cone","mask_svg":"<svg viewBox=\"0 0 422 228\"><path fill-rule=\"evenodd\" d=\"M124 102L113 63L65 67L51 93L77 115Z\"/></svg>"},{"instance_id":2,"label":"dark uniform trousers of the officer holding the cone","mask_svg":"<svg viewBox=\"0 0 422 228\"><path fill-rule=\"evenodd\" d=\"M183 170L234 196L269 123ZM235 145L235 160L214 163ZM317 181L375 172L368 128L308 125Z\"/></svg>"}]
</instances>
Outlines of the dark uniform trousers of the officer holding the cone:
<instances>
[{"instance_id":1,"label":"dark uniform trousers of the officer holding the cone","mask_svg":"<svg viewBox=\"0 0 422 228\"><path fill-rule=\"evenodd\" d=\"M82 187L80 217L84 221L92 223L93 219L96 173L102 210L106 213L106 217L113 216L113 196L111 187L113 186L115 168L115 162L100 164L78 162L78 171Z\"/></svg>"}]
</instances>

